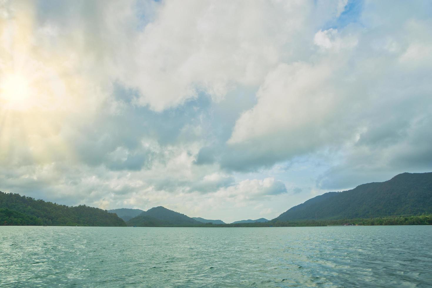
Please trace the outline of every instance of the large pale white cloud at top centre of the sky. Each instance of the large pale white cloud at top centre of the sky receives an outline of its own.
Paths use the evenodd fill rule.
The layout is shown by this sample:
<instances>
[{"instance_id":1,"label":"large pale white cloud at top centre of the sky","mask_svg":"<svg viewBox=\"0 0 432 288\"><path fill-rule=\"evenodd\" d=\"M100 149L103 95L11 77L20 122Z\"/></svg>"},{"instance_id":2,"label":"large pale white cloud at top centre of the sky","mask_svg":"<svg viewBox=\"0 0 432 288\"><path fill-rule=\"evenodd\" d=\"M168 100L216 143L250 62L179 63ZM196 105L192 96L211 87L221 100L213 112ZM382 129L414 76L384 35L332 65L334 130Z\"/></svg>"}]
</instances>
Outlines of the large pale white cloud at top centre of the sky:
<instances>
[{"instance_id":1,"label":"large pale white cloud at top centre of the sky","mask_svg":"<svg viewBox=\"0 0 432 288\"><path fill-rule=\"evenodd\" d=\"M139 89L140 104L157 111L200 91L218 101L236 85L259 85L271 67L292 56L297 48L289 42L309 32L305 23L314 15L304 4L164 2L155 21L119 50L116 76Z\"/></svg>"}]
</instances>

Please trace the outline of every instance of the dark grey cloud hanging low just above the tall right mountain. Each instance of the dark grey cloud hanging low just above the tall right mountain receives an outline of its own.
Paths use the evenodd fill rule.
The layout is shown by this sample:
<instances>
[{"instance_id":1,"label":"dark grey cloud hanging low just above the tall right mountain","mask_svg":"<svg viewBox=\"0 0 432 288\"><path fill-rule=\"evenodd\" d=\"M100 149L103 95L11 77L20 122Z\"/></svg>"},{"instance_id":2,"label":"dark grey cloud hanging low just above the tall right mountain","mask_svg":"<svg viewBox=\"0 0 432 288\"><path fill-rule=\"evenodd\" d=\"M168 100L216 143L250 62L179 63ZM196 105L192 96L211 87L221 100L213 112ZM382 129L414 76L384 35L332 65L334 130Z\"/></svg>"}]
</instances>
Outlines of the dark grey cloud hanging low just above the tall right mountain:
<instances>
[{"instance_id":1,"label":"dark grey cloud hanging low just above the tall right mountain","mask_svg":"<svg viewBox=\"0 0 432 288\"><path fill-rule=\"evenodd\" d=\"M363 183L385 181L404 171L432 169L432 149L427 144L432 135L425 133L426 127L432 124L429 115L406 123L392 120L381 124L384 125L361 133L359 140L346 148L343 161L318 177L318 187L349 189Z\"/></svg>"}]
</instances>

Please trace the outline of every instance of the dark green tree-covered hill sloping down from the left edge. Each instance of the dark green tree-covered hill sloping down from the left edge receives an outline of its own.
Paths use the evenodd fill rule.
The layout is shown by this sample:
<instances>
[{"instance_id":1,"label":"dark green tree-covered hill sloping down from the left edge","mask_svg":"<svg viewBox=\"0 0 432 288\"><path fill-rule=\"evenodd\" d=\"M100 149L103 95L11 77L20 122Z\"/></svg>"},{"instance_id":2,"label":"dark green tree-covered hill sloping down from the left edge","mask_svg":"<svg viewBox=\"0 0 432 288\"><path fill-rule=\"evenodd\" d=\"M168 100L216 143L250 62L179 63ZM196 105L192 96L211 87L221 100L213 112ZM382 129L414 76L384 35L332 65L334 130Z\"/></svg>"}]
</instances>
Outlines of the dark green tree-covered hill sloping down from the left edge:
<instances>
[{"instance_id":1,"label":"dark green tree-covered hill sloping down from the left edge","mask_svg":"<svg viewBox=\"0 0 432 288\"><path fill-rule=\"evenodd\" d=\"M126 226L126 223L99 208L65 206L0 192L0 225Z\"/></svg>"}]
</instances>

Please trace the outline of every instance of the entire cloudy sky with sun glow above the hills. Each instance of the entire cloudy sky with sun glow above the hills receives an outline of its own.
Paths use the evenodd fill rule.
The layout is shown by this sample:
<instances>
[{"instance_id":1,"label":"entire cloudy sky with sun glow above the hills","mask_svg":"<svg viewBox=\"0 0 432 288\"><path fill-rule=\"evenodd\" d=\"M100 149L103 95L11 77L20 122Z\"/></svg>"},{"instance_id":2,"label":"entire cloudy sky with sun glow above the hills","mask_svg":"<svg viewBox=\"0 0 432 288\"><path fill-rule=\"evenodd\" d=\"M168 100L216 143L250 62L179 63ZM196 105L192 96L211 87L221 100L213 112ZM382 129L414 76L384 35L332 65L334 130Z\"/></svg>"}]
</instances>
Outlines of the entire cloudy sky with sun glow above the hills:
<instances>
[{"instance_id":1,"label":"entire cloudy sky with sun glow above the hills","mask_svg":"<svg viewBox=\"0 0 432 288\"><path fill-rule=\"evenodd\" d=\"M0 0L0 190L272 219L432 171L431 1Z\"/></svg>"}]
</instances>

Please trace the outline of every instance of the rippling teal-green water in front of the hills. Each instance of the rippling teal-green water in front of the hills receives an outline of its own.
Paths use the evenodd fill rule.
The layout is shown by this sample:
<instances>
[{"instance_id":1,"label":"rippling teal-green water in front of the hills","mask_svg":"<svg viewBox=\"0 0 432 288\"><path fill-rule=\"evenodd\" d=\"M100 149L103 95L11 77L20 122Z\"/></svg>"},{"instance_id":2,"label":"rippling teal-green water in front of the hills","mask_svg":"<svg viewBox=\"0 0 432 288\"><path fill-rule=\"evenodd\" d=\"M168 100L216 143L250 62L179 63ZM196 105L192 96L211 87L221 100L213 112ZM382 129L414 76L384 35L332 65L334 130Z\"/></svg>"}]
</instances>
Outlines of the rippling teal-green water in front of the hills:
<instances>
[{"instance_id":1,"label":"rippling teal-green water in front of the hills","mask_svg":"<svg viewBox=\"0 0 432 288\"><path fill-rule=\"evenodd\" d=\"M0 227L0 287L432 287L432 226Z\"/></svg>"}]
</instances>

